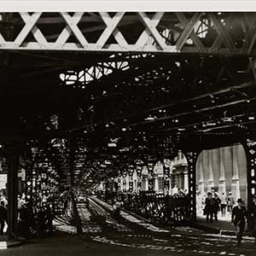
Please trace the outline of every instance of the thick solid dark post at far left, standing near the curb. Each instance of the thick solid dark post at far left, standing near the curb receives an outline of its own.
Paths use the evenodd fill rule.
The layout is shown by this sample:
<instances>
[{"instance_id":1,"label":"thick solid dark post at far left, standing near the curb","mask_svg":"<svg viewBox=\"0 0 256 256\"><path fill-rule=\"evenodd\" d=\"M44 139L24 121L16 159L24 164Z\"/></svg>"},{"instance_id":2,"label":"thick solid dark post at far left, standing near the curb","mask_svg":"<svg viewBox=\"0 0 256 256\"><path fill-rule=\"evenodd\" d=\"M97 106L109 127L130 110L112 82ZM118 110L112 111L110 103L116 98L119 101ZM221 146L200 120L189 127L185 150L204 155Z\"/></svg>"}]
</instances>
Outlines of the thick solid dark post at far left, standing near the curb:
<instances>
[{"instance_id":1,"label":"thick solid dark post at far left, standing near the curb","mask_svg":"<svg viewBox=\"0 0 256 256\"><path fill-rule=\"evenodd\" d=\"M12 145L8 148L7 165L7 188L8 188L8 209L7 209L7 221L8 221L8 240L15 239L17 237L17 196L18 196L18 168L19 168L19 154L16 145Z\"/></svg>"}]
</instances>

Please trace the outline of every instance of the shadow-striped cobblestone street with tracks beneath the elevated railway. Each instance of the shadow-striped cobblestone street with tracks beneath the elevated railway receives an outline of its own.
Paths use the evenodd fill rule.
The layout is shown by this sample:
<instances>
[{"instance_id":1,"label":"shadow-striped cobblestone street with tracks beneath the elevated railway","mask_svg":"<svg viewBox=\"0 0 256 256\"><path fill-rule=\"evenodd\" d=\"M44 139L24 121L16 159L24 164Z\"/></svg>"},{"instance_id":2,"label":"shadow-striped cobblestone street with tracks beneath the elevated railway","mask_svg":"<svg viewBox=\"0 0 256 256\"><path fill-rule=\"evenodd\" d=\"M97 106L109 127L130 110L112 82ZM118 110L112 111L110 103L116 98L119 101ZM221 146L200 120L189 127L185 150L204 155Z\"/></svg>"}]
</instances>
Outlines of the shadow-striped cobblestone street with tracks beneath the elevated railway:
<instances>
[{"instance_id":1,"label":"shadow-striped cobblestone street with tracks beneath the elevated railway","mask_svg":"<svg viewBox=\"0 0 256 256\"><path fill-rule=\"evenodd\" d=\"M88 210L79 205L79 216L84 234L75 234L75 228L65 218L55 221L54 236L28 241L20 247L1 250L0 255L237 255L254 256L256 244L250 238L236 247L236 237L207 235L189 228L169 232L136 230L129 224L119 224L102 207ZM61 228L60 228L61 227ZM59 230L65 230L61 232Z\"/></svg>"}]
</instances>

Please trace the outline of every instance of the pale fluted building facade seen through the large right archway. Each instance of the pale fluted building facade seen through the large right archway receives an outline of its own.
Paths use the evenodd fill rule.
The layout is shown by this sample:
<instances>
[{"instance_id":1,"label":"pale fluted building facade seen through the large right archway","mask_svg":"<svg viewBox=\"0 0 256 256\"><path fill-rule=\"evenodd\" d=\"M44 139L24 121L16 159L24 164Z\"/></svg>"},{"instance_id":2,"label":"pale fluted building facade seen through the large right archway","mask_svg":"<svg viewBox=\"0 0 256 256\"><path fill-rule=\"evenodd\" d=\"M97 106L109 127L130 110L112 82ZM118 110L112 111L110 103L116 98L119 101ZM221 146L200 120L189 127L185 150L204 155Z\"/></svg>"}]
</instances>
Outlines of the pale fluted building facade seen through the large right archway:
<instances>
[{"instance_id":1,"label":"pale fluted building facade seen through the large right archway","mask_svg":"<svg viewBox=\"0 0 256 256\"><path fill-rule=\"evenodd\" d=\"M247 159L241 144L203 150L196 163L196 183L201 195L218 191L247 201Z\"/></svg>"}]
</instances>

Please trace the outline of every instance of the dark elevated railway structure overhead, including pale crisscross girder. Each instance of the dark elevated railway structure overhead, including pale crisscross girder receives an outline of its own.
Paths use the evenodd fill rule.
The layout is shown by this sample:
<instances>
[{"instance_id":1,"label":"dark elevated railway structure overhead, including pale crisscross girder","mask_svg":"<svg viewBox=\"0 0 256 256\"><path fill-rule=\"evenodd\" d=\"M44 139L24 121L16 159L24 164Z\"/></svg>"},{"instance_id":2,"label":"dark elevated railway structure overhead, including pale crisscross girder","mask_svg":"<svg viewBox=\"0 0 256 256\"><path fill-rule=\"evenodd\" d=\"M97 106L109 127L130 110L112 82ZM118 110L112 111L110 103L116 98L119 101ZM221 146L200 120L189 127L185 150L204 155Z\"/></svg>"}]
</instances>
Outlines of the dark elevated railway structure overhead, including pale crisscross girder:
<instances>
[{"instance_id":1,"label":"dark elevated railway structure overhead, including pale crisscross girder","mask_svg":"<svg viewBox=\"0 0 256 256\"><path fill-rule=\"evenodd\" d=\"M254 13L3 13L0 139L88 182L255 138L255 29Z\"/></svg>"}]
</instances>

